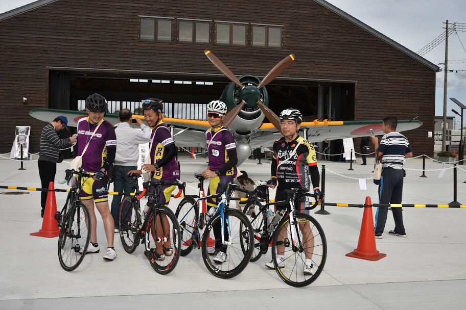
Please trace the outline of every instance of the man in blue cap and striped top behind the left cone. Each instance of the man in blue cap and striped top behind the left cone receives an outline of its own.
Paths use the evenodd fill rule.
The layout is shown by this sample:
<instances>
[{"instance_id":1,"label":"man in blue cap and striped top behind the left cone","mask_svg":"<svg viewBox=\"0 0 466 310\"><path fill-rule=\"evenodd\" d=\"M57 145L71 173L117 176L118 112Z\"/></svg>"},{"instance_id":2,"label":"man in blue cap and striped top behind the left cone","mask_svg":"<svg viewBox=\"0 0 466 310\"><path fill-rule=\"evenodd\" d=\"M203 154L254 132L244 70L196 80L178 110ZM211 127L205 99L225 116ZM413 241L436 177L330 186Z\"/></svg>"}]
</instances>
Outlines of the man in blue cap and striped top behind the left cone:
<instances>
[{"instance_id":1,"label":"man in blue cap and striped top behind the left cone","mask_svg":"<svg viewBox=\"0 0 466 310\"><path fill-rule=\"evenodd\" d=\"M57 132L68 130L68 119L60 115L53 122L45 125L40 135L40 150L37 166L39 167L40 183L42 188L49 188L50 182L55 182L55 173L57 172L57 161L60 154L60 148L64 148L70 143L76 143L76 137L60 139ZM41 192L40 204L42 206L41 216L45 211L45 202L47 201L47 192Z\"/></svg>"}]
</instances>

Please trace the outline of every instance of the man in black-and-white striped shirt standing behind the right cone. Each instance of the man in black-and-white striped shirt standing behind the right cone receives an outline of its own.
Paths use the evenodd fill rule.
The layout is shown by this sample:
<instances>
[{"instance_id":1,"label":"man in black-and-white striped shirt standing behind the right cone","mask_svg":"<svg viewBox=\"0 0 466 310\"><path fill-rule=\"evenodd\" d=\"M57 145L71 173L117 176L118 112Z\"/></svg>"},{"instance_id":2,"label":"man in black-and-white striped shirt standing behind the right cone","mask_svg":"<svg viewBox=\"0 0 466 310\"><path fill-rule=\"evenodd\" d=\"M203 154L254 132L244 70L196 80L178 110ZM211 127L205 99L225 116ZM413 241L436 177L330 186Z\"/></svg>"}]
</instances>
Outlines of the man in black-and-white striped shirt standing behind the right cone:
<instances>
[{"instance_id":1,"label":"man in black-and-white striped shirt standing behind the right cone","mask_svg":"<svg viewBox=\"0 0 466 310\"><path fill-rule=\"evenodd\" d=\"M408 139L400 133L397 133L398 120L394 116L387 116L382 122L382 131L385 135L382 137L379 145L379 139L372 137L374 149L377 150L377 156L382 157L382 178L379 185L379 203L401 203L403 195L403 177L405 171L403 164L405 158L412 157L412 149ZM395 228L388 231L389 235L406 238L405 227L403 225L403 214L401 208L391 208ZM387 221L387 206L379 206L376 213L375 234L376 239L382 239L382 233Z\"/></svg>"}]
</instances>

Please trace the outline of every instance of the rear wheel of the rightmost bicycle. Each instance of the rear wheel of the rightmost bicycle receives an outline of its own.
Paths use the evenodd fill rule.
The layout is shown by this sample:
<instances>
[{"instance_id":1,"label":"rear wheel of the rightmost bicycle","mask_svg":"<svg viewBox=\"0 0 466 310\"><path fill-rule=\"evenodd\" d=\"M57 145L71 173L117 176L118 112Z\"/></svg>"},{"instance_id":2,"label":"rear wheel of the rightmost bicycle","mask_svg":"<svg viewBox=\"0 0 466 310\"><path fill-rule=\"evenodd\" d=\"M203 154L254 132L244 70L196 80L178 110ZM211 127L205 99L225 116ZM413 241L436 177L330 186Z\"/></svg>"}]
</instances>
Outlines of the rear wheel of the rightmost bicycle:
<instances>
[{"instance_id":1,"label":"rear wheel of the rightmost bicycle","mask_svg":"<svg viewBox=\"0 0 466 310\"><path fill-rule=\"evenodd\" d=\"M251 256L251 262L257 262L263 253L267 252L268 247L263 250L261 250L261 240L263 238L266 238L264 240L265 243L268 244L269 240L269 235L265 233L266 227L265 227L265 221L264 218L266 218L266 213L265 211L261 212L261 205L258 204L255 201L250 201L246 204L246 206L243 209L243 213L246 215L248 220L251 222L252 226L252 231L253 231L253 236L252 236L252 241L253 241L253 246L252 246L252 256ZM241 242L241 248L243 249L243 252L246 251L248 248L245 246L243 242Z\"/></svg>"}]
</instances>

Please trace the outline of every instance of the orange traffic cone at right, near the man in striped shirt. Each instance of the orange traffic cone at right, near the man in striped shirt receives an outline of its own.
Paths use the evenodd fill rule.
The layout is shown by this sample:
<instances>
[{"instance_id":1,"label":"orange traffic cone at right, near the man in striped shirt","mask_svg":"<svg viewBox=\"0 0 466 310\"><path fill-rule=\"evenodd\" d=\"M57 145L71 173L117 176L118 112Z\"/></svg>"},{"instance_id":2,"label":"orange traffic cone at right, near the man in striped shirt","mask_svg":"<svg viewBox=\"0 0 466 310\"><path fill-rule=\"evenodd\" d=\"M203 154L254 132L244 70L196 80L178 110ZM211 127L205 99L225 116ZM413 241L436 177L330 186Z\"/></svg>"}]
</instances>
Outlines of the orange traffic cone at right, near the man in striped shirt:
<instances>
[{"instance_id":1,"label":"orange traffic cone at right, near the man in striped shirt","mask_svg":"<svg viewBox=\"0 0 466 310\"><path fill-rule=\"evenodd\" d=\"M355 259L378 261L387 254L380 253L376 247L376 234L374 233L374 219L372 218L372 202L366 197L364 203L364 214L362 216L361 231L359 233L358 247L351 253L346 254Z\"/></svg>"}]
</instances>

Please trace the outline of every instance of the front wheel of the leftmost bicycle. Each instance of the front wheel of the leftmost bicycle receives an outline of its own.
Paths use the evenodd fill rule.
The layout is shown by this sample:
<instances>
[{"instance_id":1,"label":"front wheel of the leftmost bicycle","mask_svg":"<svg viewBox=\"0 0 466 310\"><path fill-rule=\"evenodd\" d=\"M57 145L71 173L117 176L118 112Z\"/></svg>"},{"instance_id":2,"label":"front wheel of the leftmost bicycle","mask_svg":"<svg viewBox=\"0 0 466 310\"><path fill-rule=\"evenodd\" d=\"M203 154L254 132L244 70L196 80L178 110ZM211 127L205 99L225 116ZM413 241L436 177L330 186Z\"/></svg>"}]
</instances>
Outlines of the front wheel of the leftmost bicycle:
<instances>
[{"instance_id":1,"label":"front wheel of the leftmost bicycle","mask_svg":"<svg viewBox=\"0 0 466 310\"><path fill-rule=\"evenodd\" d=\"M66 271L75 270L84 259L90 240L89 211L77 203L63 220L58 237L58 259Z\"/></svg>"}]
</instances>

